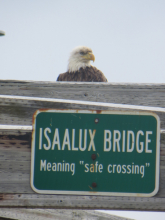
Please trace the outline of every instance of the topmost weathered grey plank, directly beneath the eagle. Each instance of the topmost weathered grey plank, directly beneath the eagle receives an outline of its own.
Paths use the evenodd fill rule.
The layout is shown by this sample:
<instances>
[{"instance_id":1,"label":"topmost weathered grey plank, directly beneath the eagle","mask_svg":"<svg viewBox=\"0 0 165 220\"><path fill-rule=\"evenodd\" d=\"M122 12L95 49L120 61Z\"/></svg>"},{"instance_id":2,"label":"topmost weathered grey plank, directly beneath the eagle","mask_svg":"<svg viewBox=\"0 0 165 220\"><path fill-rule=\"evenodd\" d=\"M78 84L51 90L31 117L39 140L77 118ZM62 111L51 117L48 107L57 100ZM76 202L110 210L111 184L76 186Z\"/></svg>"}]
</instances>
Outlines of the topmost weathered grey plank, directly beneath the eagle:
<instances>
[{"instance_id":1,"label":"topmost weathered grey plank, directly beneath the eagle","mask_svg":"<svg viewBox=\"0 0 165 220\"><path fill-rule=\"evenodd\" d=\"M165 107L165 84L0 80L0 94Z\"/></svg>"}]
</instances>

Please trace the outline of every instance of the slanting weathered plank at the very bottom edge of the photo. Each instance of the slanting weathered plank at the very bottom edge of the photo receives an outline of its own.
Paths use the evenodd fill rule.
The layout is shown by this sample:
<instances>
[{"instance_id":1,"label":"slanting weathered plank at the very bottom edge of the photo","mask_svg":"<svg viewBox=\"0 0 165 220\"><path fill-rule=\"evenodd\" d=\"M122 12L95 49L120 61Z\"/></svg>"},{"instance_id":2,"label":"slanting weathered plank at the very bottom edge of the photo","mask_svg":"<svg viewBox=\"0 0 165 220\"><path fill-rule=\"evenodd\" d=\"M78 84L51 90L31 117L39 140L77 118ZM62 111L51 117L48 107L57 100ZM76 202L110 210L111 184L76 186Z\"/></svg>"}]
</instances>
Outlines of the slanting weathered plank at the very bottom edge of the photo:
<instances>
[{"instance_id":1,"label":"slanting weathered plank at the very bottom edge of the photo","mask_svg":"<svg viewBox=\"0 0 165 220\"><path fill-rule=\"evenodd\" d=\"M45 219L58 219L58 220L79 220L79 219L92 219L92 220L131 220L130 218L119 217L91 210L63 210L63 209L6 209L0 210L0 216L10 217L10 219L21 220L45 220ZM1 217L0 217L1 219ZM3 218L5 220L6 218ZM9 219L6 219L9 220Z\"/></svg>"}]
</instances>

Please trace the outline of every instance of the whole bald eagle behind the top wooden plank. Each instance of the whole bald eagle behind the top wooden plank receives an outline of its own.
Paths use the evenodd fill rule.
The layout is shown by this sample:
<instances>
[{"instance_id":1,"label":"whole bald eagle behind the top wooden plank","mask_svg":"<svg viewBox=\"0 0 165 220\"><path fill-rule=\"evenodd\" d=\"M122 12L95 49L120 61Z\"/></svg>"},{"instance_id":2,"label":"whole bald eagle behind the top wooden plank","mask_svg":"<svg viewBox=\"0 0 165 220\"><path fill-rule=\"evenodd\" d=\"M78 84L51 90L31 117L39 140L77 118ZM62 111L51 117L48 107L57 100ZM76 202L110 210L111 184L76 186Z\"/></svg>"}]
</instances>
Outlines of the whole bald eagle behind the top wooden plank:
<instances>
[{"instance_id":1,"label":"whole bald eagle behind the top wooden plank","mask_svg":"<svg viewBox=\"0 0 165 220\"><path fill-rule=\"evenodd\" d=\"M107 82L104 74L91 65L91 60L94 62L95 56L90 48L76 47L70 54L68 71L61 73L57 81Z\"/></svg>"}]
</instances>

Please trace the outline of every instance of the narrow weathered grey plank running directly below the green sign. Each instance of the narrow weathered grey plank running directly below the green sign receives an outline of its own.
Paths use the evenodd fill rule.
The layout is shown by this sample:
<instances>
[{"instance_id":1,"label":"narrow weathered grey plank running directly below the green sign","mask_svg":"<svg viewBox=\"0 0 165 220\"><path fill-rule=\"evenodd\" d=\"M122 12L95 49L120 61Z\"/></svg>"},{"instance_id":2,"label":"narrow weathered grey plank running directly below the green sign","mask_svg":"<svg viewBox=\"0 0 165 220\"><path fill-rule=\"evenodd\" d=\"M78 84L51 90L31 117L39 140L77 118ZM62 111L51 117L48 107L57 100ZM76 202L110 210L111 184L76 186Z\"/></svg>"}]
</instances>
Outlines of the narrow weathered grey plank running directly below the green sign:
<instances>
[{"instance_id":1,"label":"narrow weathered grey plank running directly below the green sign","mask_svg":"<svg viewBox=\"0 0 165 220\"><path fill-rule=\"evenodd\" d=\"M1 208L164 211L165 198L0 194Z\"/></svg>"}]
</instances>

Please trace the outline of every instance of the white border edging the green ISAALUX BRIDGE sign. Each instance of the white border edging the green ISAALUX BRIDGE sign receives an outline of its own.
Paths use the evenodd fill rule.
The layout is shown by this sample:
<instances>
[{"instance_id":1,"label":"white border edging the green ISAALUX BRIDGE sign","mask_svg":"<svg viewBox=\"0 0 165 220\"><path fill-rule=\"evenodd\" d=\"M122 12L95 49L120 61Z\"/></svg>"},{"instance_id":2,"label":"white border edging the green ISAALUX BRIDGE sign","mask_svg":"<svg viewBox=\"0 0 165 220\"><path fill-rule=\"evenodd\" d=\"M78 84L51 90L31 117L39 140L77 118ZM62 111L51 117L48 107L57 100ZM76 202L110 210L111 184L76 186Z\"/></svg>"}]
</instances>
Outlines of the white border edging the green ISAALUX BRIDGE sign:
<instances>
[{"instance_id":1,"label":"white border edging the green ISAALUX BRIDGE sign","mask_svg":"<svg viewBox=\"0 0 165 220\"><path fill-rule=\"evenodd\" d=\"M64 191L64 190L38 190L34 186L34 158L35 158L35 130L36 117L41 112L59 112L59 113L84 113L84 114L115 114L115 115L149 115L157 120L157 140L156 140L156 175L155 175L155 189L151 193L119 193L119 192L97 192L97 191ZM32 139L31 139L31 173L30 185L34 192L39 194L67 194L67 195L96 195L96 196L131 196L131 197L152 197L158 193L159 190L159 168L160 168L160 119L154 112L142 111L114 111L114 110L81 110L81 109L39 109L34 112L32 120Z\"/></svg>"}]
</instances>

